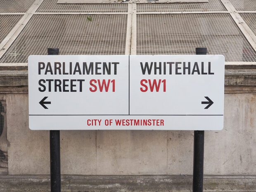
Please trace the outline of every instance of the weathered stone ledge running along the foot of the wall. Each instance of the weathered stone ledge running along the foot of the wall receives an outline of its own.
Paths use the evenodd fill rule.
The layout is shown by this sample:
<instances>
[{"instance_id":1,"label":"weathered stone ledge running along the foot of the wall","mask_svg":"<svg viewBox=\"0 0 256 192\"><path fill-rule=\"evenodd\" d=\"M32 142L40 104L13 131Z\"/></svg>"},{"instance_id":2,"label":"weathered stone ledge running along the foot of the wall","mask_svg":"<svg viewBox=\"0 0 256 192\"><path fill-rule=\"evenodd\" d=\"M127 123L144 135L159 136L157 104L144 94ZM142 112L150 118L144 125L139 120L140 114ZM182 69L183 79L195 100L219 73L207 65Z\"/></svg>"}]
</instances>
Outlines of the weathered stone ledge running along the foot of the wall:
<instances>
[{"instance_id":1,"label":"weathered stone ledge running along the foot of the wall","mask_svg":"<svg viewBox=\"0 0 256 192\"><path fill-rule=\"evenodd\" d=\"M0 176L0 192L50 192L49 175ZM62 175L62 192L191 192L192 176ZM256 176L205 176L204 192L256 192Z\"/></svg>"}]
</instances>

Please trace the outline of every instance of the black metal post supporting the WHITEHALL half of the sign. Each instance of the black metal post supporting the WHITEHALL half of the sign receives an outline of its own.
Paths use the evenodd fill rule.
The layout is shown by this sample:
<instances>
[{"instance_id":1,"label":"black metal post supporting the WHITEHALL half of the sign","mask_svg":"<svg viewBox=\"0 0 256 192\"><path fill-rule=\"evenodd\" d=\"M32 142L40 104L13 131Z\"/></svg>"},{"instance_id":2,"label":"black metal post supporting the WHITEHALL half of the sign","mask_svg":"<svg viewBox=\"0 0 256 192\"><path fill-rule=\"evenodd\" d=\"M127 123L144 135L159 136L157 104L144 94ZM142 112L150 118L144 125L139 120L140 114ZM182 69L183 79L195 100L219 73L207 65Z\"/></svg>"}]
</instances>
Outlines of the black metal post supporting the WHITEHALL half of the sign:
<instances>
[{"instance_id":1,"label":"black metal post supporting the WHITEHALL half of the sign","mask_svg":"<svg viewBox=\"0 0 256 192\"><path fill-rule=\"evenodd\" d=\"M207 48L197 47L196 55L206 55ZM194 131L193 192L203 192L204 130Z\"/></svg>"}]
</instances>

